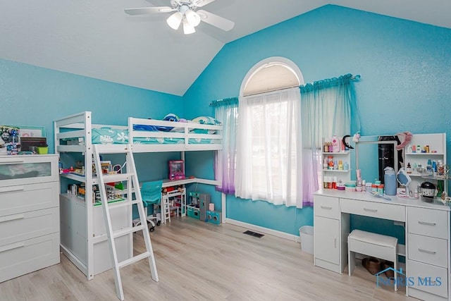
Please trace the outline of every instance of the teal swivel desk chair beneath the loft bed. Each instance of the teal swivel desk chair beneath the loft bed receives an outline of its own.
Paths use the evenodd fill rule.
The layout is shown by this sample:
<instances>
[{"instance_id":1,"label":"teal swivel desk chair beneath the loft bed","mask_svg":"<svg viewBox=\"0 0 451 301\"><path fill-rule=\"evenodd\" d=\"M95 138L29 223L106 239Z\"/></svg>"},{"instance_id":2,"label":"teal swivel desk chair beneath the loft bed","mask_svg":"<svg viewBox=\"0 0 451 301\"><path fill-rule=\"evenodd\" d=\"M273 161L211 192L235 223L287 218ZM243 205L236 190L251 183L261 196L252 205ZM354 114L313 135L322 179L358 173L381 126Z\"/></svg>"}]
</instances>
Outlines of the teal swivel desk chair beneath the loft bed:
<instances>
[{"instance_id":1,"label":"teal swivel desk chair beneath the loft bed","mask_svg":"<svg viewBox=\"0 0 451 301\"><path fill-rule=\"evenodd\" d=\"M144 212L146 214L147 223L150 224L149 231L154 232L155 226L160 226L161 218L156 214L148 216L147 207L150 205L161 204L161 186L163 185L162 180L157 180L154 182L144 182L141 187L141 197L142 203L144 205ZM140 225L140 219L133 220L133 226Z\"/></svg>"}]
</instances>

